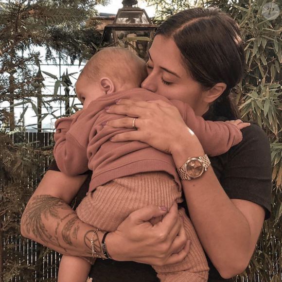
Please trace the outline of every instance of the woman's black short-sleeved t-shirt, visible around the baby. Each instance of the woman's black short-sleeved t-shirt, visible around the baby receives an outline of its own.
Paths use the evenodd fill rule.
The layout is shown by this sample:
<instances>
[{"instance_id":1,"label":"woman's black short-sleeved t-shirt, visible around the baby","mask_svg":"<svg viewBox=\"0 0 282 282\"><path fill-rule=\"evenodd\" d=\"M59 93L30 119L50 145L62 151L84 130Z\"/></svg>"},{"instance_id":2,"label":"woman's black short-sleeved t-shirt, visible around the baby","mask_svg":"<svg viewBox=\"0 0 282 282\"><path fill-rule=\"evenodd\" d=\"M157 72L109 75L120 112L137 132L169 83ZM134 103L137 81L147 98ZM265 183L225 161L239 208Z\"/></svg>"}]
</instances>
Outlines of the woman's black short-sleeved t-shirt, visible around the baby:
<instances>
[{"instance_id":1,"label":"woman's black short-sleeved t-shirt, visible around the baby","mask_svg":"<svg viewBox=\"0 0 282 282\"><path fill-rule=\"evenodd\" d=\"M265 219L268 219L272 187L269 140L257 124L244 128L242 134L243 141L238 145L231 147L223 155L210 158L212 168L230 199L243 199L259 204L265 210ZM56 163L53 162L49 169L58 170ZM88 178L77 194L77 204L88 192L91 171L87 174ZM186 202L182 205L189 216ZM231 281L223 279L209 257L207 260L210 267L208 282ZM96 260L90 277L94 282L159 282L151 265L102 259Z\"/></svg>"}]
</instances>

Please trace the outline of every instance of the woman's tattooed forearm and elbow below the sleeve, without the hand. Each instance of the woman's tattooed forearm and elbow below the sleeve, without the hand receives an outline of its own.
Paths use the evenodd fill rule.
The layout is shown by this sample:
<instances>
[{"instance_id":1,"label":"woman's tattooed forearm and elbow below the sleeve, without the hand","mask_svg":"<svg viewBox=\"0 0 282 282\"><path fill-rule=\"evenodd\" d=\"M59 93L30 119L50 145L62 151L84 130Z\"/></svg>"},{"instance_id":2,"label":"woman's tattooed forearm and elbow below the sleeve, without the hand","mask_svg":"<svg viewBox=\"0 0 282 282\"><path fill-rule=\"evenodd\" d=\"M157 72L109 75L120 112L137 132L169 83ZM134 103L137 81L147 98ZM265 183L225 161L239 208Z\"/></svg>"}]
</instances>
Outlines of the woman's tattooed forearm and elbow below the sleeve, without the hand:
<instances>
[{"instance_id":1,"label":"woman's tattooed forearm and elbow below the sleeve, without the hand","mask_svg":"<svg viewBox=\"0 0 282 282\"><path fill-rule=\"evenodd\" d=\"M47 171L22 214L21 234L62 254L91 256L88 243L95 228L81 222L68 205L86 178Z\"/></svg>"}]
</instances>

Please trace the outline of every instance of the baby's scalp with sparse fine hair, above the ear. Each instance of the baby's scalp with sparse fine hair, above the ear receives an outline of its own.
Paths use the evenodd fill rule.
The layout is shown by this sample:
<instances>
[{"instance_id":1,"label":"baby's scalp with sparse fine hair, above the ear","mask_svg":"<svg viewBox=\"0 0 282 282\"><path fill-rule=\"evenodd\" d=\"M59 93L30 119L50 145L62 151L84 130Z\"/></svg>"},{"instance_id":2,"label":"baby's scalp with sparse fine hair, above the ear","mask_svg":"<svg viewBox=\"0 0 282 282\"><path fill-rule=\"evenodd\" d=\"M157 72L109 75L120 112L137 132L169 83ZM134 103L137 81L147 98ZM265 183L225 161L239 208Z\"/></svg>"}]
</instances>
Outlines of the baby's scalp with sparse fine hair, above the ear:
<instances>
[{"instance_id":1,"label":"baby's scalp with sparse fine hair, above the ear","mask_svg":"<svg viewBox=\"0 0 282 282\"><path fill-rule=\"evenodd\" d=\"M91 57L80 76L98 83L108 77L119 91L141 87L147 71L144 60L135 53L125 48L107 47Z\"/></svg>"}]
</instances>

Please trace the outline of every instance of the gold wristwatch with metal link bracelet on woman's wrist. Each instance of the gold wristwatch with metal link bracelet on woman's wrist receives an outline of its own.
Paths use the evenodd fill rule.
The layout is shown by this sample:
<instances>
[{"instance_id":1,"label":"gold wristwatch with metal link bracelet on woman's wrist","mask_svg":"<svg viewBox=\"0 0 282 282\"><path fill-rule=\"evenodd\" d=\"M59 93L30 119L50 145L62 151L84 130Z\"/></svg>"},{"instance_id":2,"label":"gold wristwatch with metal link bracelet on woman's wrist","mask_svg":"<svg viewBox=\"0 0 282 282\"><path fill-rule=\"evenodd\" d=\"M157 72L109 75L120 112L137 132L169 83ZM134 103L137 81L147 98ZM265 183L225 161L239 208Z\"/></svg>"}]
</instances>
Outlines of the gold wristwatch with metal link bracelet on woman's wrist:
<instances>
[{"instance_id":1,"label":"gold wristwatch with metal link bracelet on woman's wrist","mask_svg":"<svg viewBox=\"0 0 282 282\"><path fill-rule=\"evenodd\" d=\"M211 161L207 154L202 157L189 158L179 169L177 169L177 173L182 180L196 179L207 171L210 164Z\"/></svg>"}]
</instances>

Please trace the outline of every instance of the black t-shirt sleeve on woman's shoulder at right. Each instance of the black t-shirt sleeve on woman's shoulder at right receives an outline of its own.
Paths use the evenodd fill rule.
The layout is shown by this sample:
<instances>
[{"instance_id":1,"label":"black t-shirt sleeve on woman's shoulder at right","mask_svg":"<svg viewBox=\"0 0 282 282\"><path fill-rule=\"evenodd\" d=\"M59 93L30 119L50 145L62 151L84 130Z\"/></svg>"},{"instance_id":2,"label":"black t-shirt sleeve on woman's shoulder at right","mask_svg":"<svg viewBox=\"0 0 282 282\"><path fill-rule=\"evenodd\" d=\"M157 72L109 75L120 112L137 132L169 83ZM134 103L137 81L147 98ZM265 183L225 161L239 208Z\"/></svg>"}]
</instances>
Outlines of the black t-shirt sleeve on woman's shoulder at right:
<instances>
[{"instance_id":1,"label":"black t-shirt sleeve on woman's shoulder at right","mask_svg":"<svg viewBox=\"0 0 282 282\"><path fill-rule=\"evenodd\" d=\"M270 142L257 124L244 128L242 134L242 142L228 152L220 182L230 199L259 204L268 219L272 189Z\"/></svg>"}]
</instances>

